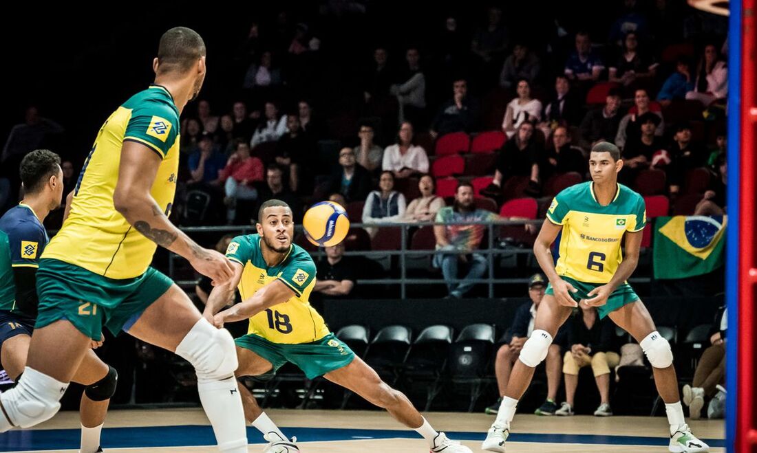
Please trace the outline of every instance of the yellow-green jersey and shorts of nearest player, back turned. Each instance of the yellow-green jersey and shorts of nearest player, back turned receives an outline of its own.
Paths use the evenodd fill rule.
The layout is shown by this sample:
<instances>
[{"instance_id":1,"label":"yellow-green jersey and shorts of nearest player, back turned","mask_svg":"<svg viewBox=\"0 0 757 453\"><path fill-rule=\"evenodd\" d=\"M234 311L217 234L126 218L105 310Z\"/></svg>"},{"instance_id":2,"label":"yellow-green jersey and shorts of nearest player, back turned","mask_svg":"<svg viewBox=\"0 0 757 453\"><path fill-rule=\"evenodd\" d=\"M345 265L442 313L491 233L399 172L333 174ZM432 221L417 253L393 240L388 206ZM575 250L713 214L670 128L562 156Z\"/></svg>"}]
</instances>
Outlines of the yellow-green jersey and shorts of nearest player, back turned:
<instances>
[{"instance_id":1,"label":"yellow-green jersey and shorts of nearest player, back turned","mask_svg":"<svg viewBox=\"0 0 757 453\"><path fill-rule=\"evenodd\" d=\"M70 214L39 263L38 328L64 318L99 340L103 323L114 334L128 329L170 287L170 279L149 267L157 245L114 208L125 141L160 157L150 193L170 213L179 169L179 110L166 88L151 85L111 113L92 144Z\"/></svg>"}]
</instances>

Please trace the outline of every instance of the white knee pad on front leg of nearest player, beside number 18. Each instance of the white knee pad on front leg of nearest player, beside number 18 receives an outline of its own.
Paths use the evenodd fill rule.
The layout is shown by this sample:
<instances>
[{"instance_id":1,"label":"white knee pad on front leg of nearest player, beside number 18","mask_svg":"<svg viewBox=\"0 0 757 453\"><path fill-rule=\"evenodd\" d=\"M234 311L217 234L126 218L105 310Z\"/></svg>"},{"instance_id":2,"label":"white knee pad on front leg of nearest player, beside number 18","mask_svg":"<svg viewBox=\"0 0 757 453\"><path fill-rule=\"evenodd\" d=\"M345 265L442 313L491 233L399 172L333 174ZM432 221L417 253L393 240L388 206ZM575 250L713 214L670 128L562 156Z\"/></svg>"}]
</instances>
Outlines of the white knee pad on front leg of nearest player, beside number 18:
<instances>
[{"instance_id":1,"label":"white knee pad on front leg of nearest player, beside number 18","mask_svg":"<svg viewBox=\"0 0 757 453\"><path fill-rule=\"evenodd\" d=\"M205 318L189 330L176 347L176 355L195 367L198 383L232 377L238 365L234 339L229 330L217 329Z\"/></svg>"}]
</instances>

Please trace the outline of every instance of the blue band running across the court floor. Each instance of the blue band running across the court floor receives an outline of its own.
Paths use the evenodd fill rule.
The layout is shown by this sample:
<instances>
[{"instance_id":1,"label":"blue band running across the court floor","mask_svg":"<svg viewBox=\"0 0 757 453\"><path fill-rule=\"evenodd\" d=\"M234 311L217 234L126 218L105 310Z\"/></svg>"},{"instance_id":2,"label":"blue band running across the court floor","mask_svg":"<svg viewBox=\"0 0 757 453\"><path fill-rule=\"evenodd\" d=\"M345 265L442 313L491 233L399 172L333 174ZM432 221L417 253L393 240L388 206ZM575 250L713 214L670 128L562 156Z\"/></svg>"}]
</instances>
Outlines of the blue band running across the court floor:
<instances>
[{"instance_id":1,"label":"blue band running across the court floor","mask_svg":"<svg viewBox=\"0 0 757 453\"><path fill-rule=\"evenodd\" d=\"M412 431L352 430L341 428L282 428L301 442L373 439L416 439ZM481 441L484 433L449 432L451 439ZM248 427L251 443L262 443L260 433ZM703 439L711 447L723 447L723 439ZM664 437L596 436L588 434L513 433L509 442L572 443L589 445L667 445ZM103 448L188 447L215 445L213 430L207 426L104 428ZM52 450L79 448L79 430L13 430L0 435L0 451Z\"/></svg>"}]
</instances>

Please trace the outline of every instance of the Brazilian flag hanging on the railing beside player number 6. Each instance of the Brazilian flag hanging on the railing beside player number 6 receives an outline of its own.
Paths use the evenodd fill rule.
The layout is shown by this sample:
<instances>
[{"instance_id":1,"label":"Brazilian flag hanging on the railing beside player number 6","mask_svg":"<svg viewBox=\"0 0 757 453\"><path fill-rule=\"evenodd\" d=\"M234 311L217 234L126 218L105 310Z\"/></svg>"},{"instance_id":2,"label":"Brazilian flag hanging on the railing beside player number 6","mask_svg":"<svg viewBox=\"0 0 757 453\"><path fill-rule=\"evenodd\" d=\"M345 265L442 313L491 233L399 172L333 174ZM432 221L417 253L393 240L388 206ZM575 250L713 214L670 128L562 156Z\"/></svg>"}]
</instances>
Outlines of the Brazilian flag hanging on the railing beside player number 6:
<instances>
[{"instance_id":1,"label":"Brazilian flag hanging on the railing beside player number 6","mask_svg":"<svg viewBox=\"0 0 757 453\"><path fill-rule=\"evenodd\" d=\"M658 217L653 258L656 279L703 275L724 262L726 216Z\"/></svg>"}]
</instances>

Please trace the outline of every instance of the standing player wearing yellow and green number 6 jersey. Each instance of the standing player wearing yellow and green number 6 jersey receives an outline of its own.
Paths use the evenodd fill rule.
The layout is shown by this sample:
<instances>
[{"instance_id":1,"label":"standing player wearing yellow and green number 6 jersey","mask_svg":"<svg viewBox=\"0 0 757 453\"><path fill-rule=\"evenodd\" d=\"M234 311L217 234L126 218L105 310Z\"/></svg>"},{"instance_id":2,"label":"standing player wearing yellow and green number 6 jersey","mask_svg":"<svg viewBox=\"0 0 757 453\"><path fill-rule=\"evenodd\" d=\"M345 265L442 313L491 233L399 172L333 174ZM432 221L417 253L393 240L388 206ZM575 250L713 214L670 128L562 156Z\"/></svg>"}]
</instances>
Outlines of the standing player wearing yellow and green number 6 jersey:
<instances>
[{"instance_id":1,"label":"standing player wearing yellow and green number 6 jersey","mask_svg":"<svg viewBox=\"0 0 757 453\"><path fill-rule=\"evenodd\" d=\"M534 368L547 357L558 328L578 303L583 303L597 307L600 318L609 316L631 334L652 364L670 423L668 450L709 451L684 420L670 344L657 332L650 313L626 282L639 259L646 209L639 194L618 184L622 167L618 147L607 142L594 145L589 157L593 181L557 194L547 212L534 244L534 255L550 284L536 312L534 332L512 368L497 420L481 445L484 450L505 451L510 422L518 400L531 383ZM555 265L550 246L561 230ZM624 237L625 256L621 252Z\"/></svg>"}]
</instances>

